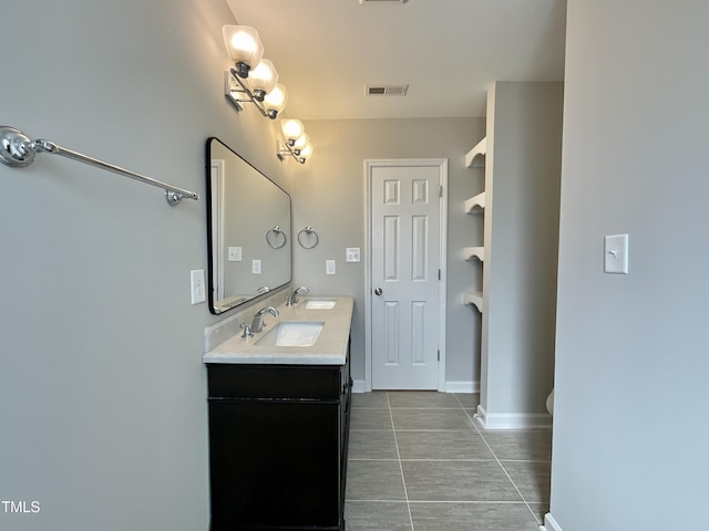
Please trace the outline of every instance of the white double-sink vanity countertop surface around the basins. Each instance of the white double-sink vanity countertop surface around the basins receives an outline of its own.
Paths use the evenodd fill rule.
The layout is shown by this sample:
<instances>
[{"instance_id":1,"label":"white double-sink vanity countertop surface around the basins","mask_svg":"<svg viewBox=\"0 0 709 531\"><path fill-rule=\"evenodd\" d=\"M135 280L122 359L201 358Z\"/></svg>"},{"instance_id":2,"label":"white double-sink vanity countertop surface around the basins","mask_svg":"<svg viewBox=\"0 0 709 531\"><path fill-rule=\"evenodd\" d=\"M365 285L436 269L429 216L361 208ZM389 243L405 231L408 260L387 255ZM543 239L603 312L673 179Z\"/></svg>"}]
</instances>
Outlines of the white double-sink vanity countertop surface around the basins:
<instances>
[{"instance_id":1,"label":"white double-sink vanity countertop surface around the basins","mask_svg":"<svg viewBox=\"0 0 709 531\"><path fill-rule=\"evenodd\" d=\"M335 299L335 308L306 309L308 300ZM276 306L278 316L270 313L264 315L264 331L255 333L254 337L243 339L242 333L235 334L220 345L205 352L204 363L259 363L287 365L345 365L352 322L351 296L312 296L301 295L300 302L294 306L286 303ZM254 308L256 313L260 308ZM267 346L258 341L273 330L279 322L310 321L322 322L322 331L311 346Z\"/></svg>"}]
</instances>

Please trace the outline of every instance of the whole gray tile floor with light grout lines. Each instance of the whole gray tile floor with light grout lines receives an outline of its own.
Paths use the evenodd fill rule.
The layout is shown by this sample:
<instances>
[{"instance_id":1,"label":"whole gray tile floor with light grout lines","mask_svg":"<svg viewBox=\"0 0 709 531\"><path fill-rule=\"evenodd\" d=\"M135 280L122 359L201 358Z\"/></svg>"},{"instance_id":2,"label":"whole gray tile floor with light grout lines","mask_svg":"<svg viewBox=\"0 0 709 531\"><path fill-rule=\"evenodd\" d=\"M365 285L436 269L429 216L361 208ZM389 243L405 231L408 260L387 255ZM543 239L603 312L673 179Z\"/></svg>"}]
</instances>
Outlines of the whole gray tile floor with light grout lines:
<instances>
[{"instance_id":1,"label":"whole gray tile floor with light grout lines","mask_svg":"<svg viewBox=\"0 0 709 531\"><path fill-rule=\"evenodd\" d=\"M352 395L347 531L536 531L549 429L479 430L479 395Z\"/></svg>"}]
</instances>

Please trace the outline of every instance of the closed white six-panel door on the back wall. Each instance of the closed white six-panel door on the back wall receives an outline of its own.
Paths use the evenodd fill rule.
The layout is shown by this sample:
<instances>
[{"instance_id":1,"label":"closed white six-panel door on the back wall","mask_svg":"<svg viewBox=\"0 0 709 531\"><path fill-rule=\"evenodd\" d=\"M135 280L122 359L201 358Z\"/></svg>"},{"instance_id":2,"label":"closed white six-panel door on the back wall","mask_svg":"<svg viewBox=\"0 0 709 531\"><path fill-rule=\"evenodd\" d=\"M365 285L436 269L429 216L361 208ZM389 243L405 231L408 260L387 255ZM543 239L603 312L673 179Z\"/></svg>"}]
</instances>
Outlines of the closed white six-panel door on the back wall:
<instances>
[{"instance_id":1,"label":"closed white six-panel door on the back wall","mask_svg":"<svg viewBox=\"0 0 709 531\"><path fill-rule=\"evenodd\" d=\"M438 166L371 168L373 389L439 386Z\"/></svg>"}]
</instances>

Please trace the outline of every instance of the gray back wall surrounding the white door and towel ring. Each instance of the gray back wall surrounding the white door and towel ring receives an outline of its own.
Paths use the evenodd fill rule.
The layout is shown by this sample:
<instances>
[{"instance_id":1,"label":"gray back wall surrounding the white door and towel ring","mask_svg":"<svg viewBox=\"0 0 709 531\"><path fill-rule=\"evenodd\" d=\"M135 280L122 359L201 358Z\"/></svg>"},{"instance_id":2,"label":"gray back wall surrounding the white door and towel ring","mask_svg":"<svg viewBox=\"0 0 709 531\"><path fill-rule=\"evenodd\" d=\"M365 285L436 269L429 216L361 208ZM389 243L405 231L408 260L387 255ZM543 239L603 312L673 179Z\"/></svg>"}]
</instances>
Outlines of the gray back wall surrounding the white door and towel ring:
<instances>
[{"instance_id":1,"label":"gray back wall surrounding the white door and towel ring","mask_svg":"<svg viewBox=\"0 0 709 531\"><path fill-rule=\"evenodd\" d=\"M352 377L364 378L364 159L448 158L448 327L446 382L477 382L480 316L462 305L461 293L474 282L474 268L462 259L473 233L482 230L463 214L463 201L482 190L482 169L464 167L464 155L484 136L482 118L346 119L305 123L315 146L308 164L294 171L294 232L309 225L319 243L295 247L294 283L320 294L356 298L352 322ZM480 221L477 221L480 222ZM345 262L345 248L362 250L360 263ZM325 261L337 260L337 274L325 275Z\"/></svg>"}]
</instances>

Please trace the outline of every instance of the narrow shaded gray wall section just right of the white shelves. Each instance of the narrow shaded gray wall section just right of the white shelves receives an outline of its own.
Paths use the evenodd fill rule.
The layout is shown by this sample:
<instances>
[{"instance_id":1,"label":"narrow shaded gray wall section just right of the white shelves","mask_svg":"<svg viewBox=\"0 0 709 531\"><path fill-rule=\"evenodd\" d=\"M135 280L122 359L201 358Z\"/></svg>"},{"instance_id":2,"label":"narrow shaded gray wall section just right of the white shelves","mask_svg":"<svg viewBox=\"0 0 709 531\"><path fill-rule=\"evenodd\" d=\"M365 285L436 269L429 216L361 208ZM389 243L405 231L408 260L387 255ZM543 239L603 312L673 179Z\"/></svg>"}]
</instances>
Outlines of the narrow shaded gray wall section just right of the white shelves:
<instances>
[{"instance_id":1,"label":"narrow shaded gray wall section just right of the white shelves","mask_svg":"<svg viewBox=\"0 0 709 531\"><path fill-rule=\"evenodd\" d=\"M535 424L554 372L564 84L497 82L487 97L481 406L487 427Z\"/></svg>"}]
</instances>

